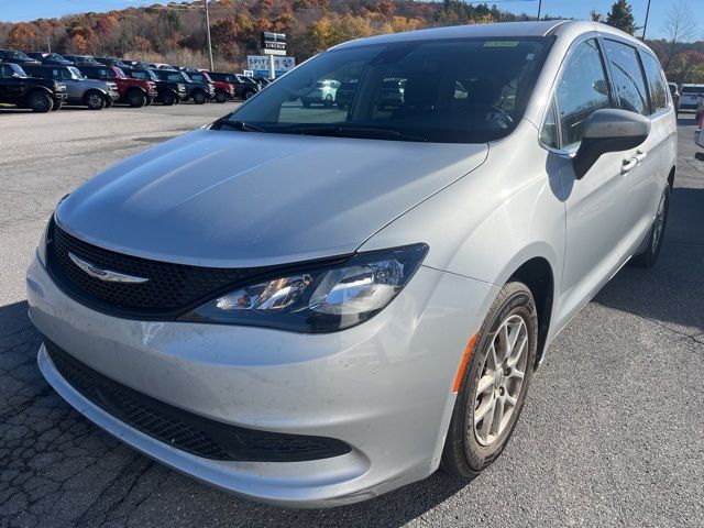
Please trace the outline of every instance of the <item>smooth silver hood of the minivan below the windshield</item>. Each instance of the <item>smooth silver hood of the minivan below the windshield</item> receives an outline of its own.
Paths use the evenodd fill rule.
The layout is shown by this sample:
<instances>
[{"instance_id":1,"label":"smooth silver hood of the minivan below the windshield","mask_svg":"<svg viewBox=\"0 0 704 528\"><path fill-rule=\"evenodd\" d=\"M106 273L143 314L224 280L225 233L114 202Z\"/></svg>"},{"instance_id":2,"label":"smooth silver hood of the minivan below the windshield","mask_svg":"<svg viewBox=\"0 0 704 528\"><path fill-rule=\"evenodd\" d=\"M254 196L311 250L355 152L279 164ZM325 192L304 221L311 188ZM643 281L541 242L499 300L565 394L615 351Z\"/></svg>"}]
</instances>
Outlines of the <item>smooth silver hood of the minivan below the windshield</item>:
<instances>
[{"instance_id":1,"label":"smooth silver hood of the minivan below the windshield","mask_svg":"<svg viewBox=\"0 0 704 528\"><path fill-rule=\"evenodd\" d=\"M96 245L183 264L342 255L487 152L486 144L198 130L90 179L61 202L56 221Z\"/></svg>"}]
</instances>

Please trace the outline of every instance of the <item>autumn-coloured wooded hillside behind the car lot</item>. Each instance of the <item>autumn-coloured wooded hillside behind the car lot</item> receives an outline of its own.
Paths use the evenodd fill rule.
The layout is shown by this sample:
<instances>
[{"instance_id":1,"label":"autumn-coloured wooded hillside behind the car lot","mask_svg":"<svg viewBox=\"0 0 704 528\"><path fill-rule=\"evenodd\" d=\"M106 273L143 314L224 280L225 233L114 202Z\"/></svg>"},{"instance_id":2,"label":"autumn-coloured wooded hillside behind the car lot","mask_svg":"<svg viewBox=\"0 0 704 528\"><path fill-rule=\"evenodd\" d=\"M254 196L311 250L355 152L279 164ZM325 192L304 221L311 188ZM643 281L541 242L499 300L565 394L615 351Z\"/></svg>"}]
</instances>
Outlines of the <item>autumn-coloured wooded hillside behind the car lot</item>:
<instances>
[{"instance_id":1,"label":"autumn-coloured wooded hillside behind the car lot","mask_svg":"<svg viewBox=\"0 0 704 528\"><path fill-rule=\"evenodd\" d=\"M681 6L681 4L676 4ZM554 13L559 18L559 13ZM634 33L626 0L617 0L603 20ZM288 35L298 62L337 43L381 33L458 24L529 20L490 4L460 0L211 0L210 29L216 67L240 72L246 55L258 52L258 34ZM704 82L704 42L682 44L690 33L685 12L671 13L672 38L649 41L675 81ZM202 1L81 13L33 22L0 22L0 47L23 51L118 56L206 67Z\"/></svg>"}]
</instances>

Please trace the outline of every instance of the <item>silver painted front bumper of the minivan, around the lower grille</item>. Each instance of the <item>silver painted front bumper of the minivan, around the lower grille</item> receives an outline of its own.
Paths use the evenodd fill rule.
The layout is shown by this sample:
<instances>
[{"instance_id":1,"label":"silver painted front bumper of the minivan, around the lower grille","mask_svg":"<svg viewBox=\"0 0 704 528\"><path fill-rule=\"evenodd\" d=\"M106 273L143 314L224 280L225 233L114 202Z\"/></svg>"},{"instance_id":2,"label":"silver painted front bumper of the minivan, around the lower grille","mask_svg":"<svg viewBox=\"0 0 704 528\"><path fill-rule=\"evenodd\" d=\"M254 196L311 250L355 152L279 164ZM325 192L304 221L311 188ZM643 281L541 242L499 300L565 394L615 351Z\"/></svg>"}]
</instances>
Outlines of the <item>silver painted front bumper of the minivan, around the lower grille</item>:
<instances>
[{"instance_id":1,"label":"silver painted front bumper of the minivan, around the lower grille","mask_svg":"<svg viewBox=\"0 0 704 528\"><path fill-rule=\"evenodd\" d=\"M299 334L118 319L67 297L37 260L28 271L34 324L100 374L208 419L346 443L346 454L298 462L196 457L94 405L40 350L50 384L108 432L223 490L299 507L363 501L438 468L452 382L496 293L486 283L421 267L373 319L341 332Z\"/></svg>"}]
</instances>

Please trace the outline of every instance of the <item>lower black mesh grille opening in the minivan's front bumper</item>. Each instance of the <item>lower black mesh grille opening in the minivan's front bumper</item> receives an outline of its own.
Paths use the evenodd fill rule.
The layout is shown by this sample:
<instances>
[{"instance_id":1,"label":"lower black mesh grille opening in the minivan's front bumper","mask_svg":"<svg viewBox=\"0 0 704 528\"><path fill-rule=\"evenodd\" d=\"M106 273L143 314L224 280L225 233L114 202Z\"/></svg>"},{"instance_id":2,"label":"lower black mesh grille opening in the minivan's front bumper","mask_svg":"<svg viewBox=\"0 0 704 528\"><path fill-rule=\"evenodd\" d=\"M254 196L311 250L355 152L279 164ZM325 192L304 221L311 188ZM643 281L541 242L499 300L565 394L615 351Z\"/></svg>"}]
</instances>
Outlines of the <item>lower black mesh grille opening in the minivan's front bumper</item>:
<instances>
[{"instance_id":1,"label":"lower black mesh grille opening in the minivan's front bumper","mask_svg":"<svg viewBox=\"0 0 704 528\"><path fill-rule=\"evenodd\" d=\"M331 438L257 431L211 420L127 387L44 340L52 363L85 398L128 426L176 449L211 460L296 462L350 452Z\"/></svg>"}]
</instances>

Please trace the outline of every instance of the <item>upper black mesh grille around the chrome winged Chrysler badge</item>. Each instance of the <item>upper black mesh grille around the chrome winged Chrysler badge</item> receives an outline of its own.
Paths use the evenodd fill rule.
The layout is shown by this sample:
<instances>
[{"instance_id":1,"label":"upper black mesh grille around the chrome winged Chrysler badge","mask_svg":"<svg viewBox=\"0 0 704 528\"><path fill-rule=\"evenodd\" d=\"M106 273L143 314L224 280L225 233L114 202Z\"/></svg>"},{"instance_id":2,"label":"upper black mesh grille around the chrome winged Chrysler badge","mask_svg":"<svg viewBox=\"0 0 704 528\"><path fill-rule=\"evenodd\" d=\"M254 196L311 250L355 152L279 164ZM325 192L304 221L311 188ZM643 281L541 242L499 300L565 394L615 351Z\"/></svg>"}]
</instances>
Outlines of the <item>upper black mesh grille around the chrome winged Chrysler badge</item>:
<instances>
[{"instance_id":1,"label":"upper black mesh grille around the chrome winged Chrysler badge","mask_svg":"<svg viewBox=\"0 0 704 528\"><path fill-rule=\"evenodd\" d=\"M142 284L101 280L79 268L69 253L99 268L148 280ZM66 293L101 311L135 317L183 314L223 288L271 271L189 266L131 256L84 242L54 221L47 233L46 254L50 272Z\"/></svg>"}]
</instances>

